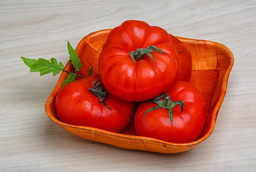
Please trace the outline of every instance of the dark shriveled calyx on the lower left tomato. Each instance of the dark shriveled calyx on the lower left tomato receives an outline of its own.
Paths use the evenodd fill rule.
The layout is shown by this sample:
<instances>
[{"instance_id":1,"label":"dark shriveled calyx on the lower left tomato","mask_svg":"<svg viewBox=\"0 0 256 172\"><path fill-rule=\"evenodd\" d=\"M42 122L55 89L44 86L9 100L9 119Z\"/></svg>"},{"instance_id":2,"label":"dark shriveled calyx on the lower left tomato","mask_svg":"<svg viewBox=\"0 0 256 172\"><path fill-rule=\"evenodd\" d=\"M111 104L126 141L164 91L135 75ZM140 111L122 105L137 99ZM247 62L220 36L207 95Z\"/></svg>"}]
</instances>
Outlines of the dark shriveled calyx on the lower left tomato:
<instances>
[{"instance_id":1,"label":"dark shriveled calyx on the lower left tomato","mask_svg":"<svg viewBox=\"0 0 256 172\"><path fill-rule=\"evenodd\" d=\"M103 90L103 85L101 83L99 83L98 81L100 81L100 79L95 80L92 84L92 88L89 88L89 90L92 92L92 94L94 96L99 98L99 100L100 100L99 103L103 103L107 108L111 109L105 103L105 101L108 99L108 90L106 90L106 89ZM102 98L104 98L104 99L102 99Z\"/></svg>"}]
</instances>

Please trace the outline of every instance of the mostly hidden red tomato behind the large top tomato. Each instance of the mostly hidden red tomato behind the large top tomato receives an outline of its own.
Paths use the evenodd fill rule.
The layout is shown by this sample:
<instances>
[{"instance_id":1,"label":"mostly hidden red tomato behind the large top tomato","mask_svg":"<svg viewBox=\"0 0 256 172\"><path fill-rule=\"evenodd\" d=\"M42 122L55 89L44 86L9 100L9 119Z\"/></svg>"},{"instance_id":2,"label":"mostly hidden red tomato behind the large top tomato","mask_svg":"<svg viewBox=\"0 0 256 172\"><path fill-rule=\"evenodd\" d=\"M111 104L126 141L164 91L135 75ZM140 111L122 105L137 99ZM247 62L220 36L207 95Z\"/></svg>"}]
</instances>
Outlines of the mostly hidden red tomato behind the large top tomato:
<instances>
[{"instance_id":1,"label":"mostly hidden red tomato behind the large top tomato","mask_svg":"<svg viewBox=\"0 0 256 172\"><path fill-rule=\"evenodd\" d=\"M189 82L192 74L192 56L191 52L188 48L180 41L180 39L177 39L175 36L171 35L171 40L173 45L178 50L179 55L179 70L178 74L175 78L175 81L187 81Z\"/></svg>"}]
</instances>

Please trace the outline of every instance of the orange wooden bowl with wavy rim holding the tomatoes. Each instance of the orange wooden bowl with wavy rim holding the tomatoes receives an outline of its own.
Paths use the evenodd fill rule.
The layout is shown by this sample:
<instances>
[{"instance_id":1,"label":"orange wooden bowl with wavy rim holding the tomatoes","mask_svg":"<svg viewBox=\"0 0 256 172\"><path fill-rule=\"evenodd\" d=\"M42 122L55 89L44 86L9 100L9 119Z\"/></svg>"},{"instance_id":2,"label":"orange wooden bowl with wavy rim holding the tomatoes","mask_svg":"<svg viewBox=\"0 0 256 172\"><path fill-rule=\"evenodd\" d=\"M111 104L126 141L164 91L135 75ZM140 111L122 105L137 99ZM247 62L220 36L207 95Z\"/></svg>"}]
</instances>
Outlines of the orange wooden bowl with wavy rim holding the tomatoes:
<instances>
[{"instance_id":1,"label":"orange wooden bowl with wavy rim holding the tomatoes","mask_svg":"<svg viewBox=\"0 0 256 172\"><path fill-rule=\"evenodd\" d=\"M94 65L94 73L97 72L97 60L101 48L111 29L99 30L85 36L76 48L80 58L88 59L88 66L82 70L90 70ZM207 107L207 117L200 137L194 142L175 144L150 137L137 136L133 121L119 133L113 133L99 128L76 126L58 120L54 100L61 85L67 76L62 72L61 76L45 103L45 111L48 117L66 131L94 142L110 144L120 148L133 150L146 150L159 153L178 153L190 150L198 146L213 132L218 111L224 99L228 76L234 63L232 52L224 45L204 40L177 37L191 51L193 57L193 72L190 82L202 93ZM69 61L66 70L73 70Z\"/></svg>"}]
</instances>

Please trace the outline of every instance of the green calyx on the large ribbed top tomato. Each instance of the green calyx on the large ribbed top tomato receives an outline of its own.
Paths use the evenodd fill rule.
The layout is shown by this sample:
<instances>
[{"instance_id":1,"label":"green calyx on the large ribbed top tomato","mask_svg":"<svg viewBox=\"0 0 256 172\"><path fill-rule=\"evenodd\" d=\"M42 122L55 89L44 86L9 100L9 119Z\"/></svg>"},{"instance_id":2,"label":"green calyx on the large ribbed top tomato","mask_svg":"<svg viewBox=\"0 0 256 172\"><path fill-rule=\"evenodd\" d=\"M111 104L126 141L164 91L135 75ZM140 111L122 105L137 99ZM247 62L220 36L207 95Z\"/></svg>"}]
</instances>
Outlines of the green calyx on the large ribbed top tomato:
<instances>
[{"instance_id":1,"label":"green calyx on the large ribbed top tomato","mask_svg":"<svg viewBox=\"0 0 256 172\"><path fill-rule=\"evenodd\" d=\"M152 46L148 46L147 48L138 48L135 51L131 51L130 56L132 57L134 64L136 64L135 60L139 61L139 60L143 59L145 54L147 54L150 57L150 59L152 59L153 62L155 63L155 60L153 59L153 57L151 55L151 52L155 52L155 51L160 52L161 54L166 53L163 50L152 45Z\"/></svg>"}]
</instances>

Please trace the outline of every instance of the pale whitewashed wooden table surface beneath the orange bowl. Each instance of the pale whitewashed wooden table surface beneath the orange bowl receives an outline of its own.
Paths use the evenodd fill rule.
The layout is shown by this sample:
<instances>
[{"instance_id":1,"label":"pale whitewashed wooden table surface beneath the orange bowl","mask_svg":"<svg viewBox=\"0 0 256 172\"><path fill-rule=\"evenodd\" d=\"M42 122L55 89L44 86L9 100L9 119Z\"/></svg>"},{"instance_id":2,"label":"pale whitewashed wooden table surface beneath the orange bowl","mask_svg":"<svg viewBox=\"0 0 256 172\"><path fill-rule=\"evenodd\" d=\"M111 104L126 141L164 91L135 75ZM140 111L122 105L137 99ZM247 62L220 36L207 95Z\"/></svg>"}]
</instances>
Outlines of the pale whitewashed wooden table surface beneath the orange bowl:
<instances>
[{"instance_id":1,"label":"pale whitewashed wooden table surface beneath the orange bowl","mask_svg":"<svg viewBox=\"0 0 256 172\"><path fill-rule=\"evenodd\" d=\"M67 63L89 33L143 20L176 36L216 41L235 63L211 136L178 154L126 150L76 137L46 115L59 75L30 73L21 56ZM0 171L246 171L256 169L255 0L0 0Z\"/></svg>"}]
</instances>

